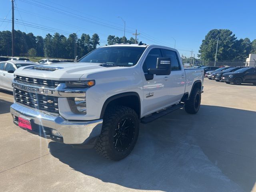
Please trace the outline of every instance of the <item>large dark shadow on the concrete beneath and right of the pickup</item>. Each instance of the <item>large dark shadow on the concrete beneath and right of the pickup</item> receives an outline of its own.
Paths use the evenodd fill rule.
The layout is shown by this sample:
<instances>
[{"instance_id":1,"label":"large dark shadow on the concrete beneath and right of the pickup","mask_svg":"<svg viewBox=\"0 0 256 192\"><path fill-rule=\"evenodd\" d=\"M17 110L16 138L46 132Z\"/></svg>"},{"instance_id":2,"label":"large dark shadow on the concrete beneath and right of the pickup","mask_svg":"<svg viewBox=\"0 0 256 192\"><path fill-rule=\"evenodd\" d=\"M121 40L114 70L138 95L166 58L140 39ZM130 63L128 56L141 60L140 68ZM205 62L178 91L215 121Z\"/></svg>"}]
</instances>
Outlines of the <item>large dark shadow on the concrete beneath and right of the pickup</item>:
<instances>
[{"instance_id":1,"label":"large dark shadow on the concrete beneath and right of the pickup","mask_svg":"<svg viewBox=\"0 0 256 192\"><path fill-rule=\"evenodd\" d=\"M126 188L250 191L256 181L255 116L253 111L207 105L196 115L177 110L141 124L134 150L119 162L57 142L48 147L73 170Z\"/></svg>"}]
</instances>

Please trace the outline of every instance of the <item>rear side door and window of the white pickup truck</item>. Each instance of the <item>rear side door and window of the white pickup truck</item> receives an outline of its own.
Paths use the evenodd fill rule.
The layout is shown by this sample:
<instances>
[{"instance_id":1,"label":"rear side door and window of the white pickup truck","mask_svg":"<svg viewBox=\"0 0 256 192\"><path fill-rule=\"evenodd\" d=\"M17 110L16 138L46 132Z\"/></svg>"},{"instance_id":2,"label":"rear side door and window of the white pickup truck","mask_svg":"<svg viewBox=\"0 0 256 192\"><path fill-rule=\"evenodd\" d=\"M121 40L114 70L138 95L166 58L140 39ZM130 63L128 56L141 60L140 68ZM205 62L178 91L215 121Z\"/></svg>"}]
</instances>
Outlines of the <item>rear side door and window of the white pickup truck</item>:
<instances>
[{"instance_id":1,"label":"rear side door and window of the white pickup truck","mask_svg":"<svg viewBox=\"0 0 256 192\"><path fill-rule=\"evenodd\" d=\"M170 104L180 102L185 92L186 75L181 68L178 55L175 51L161 49L164 57L171 58L171 74L170 74ZM168 85L169 86L169 85Z\"/></svg>"}]
</instances>

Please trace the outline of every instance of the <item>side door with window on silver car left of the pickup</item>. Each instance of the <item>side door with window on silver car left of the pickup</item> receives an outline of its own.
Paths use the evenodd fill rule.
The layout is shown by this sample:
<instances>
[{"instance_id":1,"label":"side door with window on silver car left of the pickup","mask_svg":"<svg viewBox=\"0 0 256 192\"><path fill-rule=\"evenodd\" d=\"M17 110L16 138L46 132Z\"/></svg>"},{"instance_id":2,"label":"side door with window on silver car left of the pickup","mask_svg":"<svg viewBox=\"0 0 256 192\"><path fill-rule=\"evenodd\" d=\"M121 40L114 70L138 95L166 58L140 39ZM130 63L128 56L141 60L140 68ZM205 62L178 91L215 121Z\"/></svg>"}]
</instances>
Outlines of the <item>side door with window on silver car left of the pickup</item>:
<instances>
[{"instance_id":1,"label":"side door with window on silver car left of the pickup","mask_svg":"<svg viewBox=\"0 0 256 192\"><path fill-rule=\"evenodd\" d=\"M14 78L13 73L8 73L8 71L15 71L16 66L12 63L6 63L4 69L4 76L2 76L3 88L12 91L12 80Z\"/></svg>"}]
</instances>

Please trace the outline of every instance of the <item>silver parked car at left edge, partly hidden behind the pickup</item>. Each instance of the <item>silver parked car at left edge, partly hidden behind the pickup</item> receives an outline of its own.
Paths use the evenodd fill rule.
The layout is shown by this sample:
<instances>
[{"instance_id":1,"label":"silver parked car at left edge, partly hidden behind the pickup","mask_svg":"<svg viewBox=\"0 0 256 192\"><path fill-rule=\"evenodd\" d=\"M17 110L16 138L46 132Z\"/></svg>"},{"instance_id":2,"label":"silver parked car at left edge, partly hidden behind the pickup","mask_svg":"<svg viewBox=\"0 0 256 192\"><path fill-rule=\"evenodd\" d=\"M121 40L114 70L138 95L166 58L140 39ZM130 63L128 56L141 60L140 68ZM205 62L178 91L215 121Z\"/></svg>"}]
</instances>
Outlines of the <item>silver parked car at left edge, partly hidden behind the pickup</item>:
<instances>
[{"instance_id":1,"label":"silver parked car at left edge, partly hidden behind the pickup","mask_svg":"<svg viewBox=\"0 0 256 192\"><path fill-rule=\"evenodd\" d=\"M14 78L13 73L16 69L35 65L38 63L31 62L31 61L17 61L17 60L9 60L0 62L0 89L12 91L12 80Z\"/></svg>"}]
</instances>

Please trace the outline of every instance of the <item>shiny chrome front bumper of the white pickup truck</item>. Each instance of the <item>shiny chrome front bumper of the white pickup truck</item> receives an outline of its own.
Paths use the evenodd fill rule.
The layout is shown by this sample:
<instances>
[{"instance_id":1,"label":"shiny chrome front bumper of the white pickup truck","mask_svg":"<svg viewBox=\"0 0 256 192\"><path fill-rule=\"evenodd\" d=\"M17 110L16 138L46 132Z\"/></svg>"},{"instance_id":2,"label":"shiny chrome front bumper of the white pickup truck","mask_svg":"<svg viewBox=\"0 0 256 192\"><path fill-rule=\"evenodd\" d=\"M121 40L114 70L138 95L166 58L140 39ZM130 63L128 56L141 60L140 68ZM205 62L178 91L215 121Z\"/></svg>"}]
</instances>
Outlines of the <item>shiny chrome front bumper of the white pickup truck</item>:
<instances>
[{"instance_id":1,"label":"shiny chrome front bumper of the white pickup truck","mask_svg":"<svg viewBox=\"0 0 256 192\"><path fill-rule=\"evenodd\" d=\"M63 140L65 144L86 144L92 138L100 135L102 129L102 119L92 121L70 121L62 118L58 114L44 113L33 108L28 108L18 103L10 106L10 113L14 119L14 124L18 125L18 117L24 116L32 120L34 126L42 130L48 130L47 138L53 140ZM33 126L32 126L33 128ZM45 129L44 129L45 128ZM52 135L51 130L57 130L62 137Z\"/></svg>"}]
</instances>

